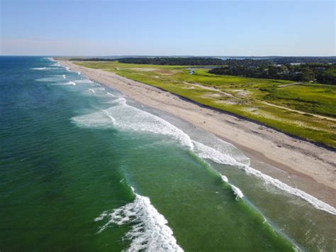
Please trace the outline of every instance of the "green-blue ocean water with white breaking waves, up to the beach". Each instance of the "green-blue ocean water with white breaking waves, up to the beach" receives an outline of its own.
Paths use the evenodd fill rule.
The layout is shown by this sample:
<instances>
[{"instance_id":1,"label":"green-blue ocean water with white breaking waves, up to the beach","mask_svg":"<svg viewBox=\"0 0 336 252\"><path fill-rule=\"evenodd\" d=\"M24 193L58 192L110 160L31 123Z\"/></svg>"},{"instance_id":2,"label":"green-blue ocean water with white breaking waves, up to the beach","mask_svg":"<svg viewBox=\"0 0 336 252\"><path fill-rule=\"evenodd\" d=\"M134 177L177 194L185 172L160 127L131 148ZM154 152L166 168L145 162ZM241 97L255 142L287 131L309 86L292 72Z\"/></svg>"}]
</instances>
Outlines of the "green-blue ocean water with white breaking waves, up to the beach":
<instances>
[{"instance_id":1,"label":"green-blue ocean water with white breaking waves, up to the beach","mask_svg":"<svg viewBox=\"0 0 336 252\"><path fill-rule=\"evenodd\" d=\"M335 250L335 209L234 146L48 58L0 60L1 251Z\"/></svg>"}]
</instances>

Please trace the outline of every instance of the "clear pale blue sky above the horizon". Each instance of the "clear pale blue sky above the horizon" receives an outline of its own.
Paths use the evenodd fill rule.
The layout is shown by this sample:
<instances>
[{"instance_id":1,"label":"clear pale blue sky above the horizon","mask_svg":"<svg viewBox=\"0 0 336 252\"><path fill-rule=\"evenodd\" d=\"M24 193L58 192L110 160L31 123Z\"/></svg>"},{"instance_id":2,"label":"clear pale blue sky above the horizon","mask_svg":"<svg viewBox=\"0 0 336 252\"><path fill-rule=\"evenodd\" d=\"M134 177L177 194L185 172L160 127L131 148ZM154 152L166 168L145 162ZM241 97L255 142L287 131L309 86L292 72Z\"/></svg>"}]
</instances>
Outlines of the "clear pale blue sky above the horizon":
<instances>
[{"instance_id":1,"label":"clear pale blue sky above the horizon","mask_svg":"<svg viewBox=\"0 0 336 252\"><path fill-rule=\"evenodd\" d=\"M335 1L0 2L1 55L336 55Z\"/></svg>"}]
</instances>

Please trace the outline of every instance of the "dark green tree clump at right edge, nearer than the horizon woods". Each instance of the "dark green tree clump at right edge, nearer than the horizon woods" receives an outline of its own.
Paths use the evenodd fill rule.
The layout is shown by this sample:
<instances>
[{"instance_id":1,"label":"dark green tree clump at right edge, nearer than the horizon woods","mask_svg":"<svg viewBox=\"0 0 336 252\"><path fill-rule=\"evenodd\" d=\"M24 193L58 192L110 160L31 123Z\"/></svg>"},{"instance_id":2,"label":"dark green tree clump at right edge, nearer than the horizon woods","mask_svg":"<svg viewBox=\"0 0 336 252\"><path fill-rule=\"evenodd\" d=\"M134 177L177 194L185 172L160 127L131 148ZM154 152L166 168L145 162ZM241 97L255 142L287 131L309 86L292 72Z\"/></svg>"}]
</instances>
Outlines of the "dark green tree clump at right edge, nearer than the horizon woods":
<instances>
[{"instance_id":1,"label":"dark green tree clump at right edge, nearer than the horizon woods","mask_svg":"<svg viewBox=\"0 0 336 252\"><path fill-rule=\"evenodd\" d=\"M209 70L215 75L235 75L264 79L293 80L336 84L336 64L306 63L300 65L225 65Z\"/></svg>"}]
</instances>

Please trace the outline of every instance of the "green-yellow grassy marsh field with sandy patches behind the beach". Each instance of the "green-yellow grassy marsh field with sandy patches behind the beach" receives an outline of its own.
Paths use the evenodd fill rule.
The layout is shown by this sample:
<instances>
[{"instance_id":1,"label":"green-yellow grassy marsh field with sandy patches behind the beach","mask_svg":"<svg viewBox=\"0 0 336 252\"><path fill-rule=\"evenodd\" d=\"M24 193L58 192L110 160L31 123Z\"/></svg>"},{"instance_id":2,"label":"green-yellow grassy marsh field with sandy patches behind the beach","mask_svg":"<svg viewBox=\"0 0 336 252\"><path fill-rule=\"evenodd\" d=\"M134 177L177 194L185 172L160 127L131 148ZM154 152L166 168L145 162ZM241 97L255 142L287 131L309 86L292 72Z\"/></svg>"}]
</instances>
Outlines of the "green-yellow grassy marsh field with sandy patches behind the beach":
<instances>
[{"instance_id":1,"label":"green-yellow grassy marsh field with sandy patches behind the beach","mask_svg":"<svg viewBox=\"0 0 336 252\"><path fill-rule=\"evenodd\" d=\"M293 136L336 147L336 87L326 84L290 84L290 81L212 75L207 69L186 66L136 65L119 62L77 62L78 65L160 87L194 102L228 111ZM198 66L199 67L199 66ZM193 67L191 67L193 68ZM276 104L296 111L281 109Z\"/></svg>"}]
</instances>

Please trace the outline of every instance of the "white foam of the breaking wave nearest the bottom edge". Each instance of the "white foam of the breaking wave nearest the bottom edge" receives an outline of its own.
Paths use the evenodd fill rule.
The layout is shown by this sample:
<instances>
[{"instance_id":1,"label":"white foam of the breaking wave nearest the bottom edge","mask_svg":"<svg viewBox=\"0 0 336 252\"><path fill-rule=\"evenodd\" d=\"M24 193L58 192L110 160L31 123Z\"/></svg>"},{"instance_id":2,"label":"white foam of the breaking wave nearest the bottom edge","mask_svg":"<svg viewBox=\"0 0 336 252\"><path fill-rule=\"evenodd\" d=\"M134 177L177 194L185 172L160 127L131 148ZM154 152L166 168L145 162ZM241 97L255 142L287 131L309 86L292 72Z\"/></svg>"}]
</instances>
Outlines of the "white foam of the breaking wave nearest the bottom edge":
<instances>
[{"instance_id":1,"label":"white foam of the breaking wave nearest the bottom edge","mask_svg":"<svg viewBox=\"0 0 336 252\"><path fill-rule=\"evenodd\" d=\"M135 193L133 202L112 211L103 212L94 221L107 219L98 233L111 224L133 224L124 239L130 239L127 251L183 251L177 244L168 221L151 204L148 197Z\"/></svg>"}]
</instances>

